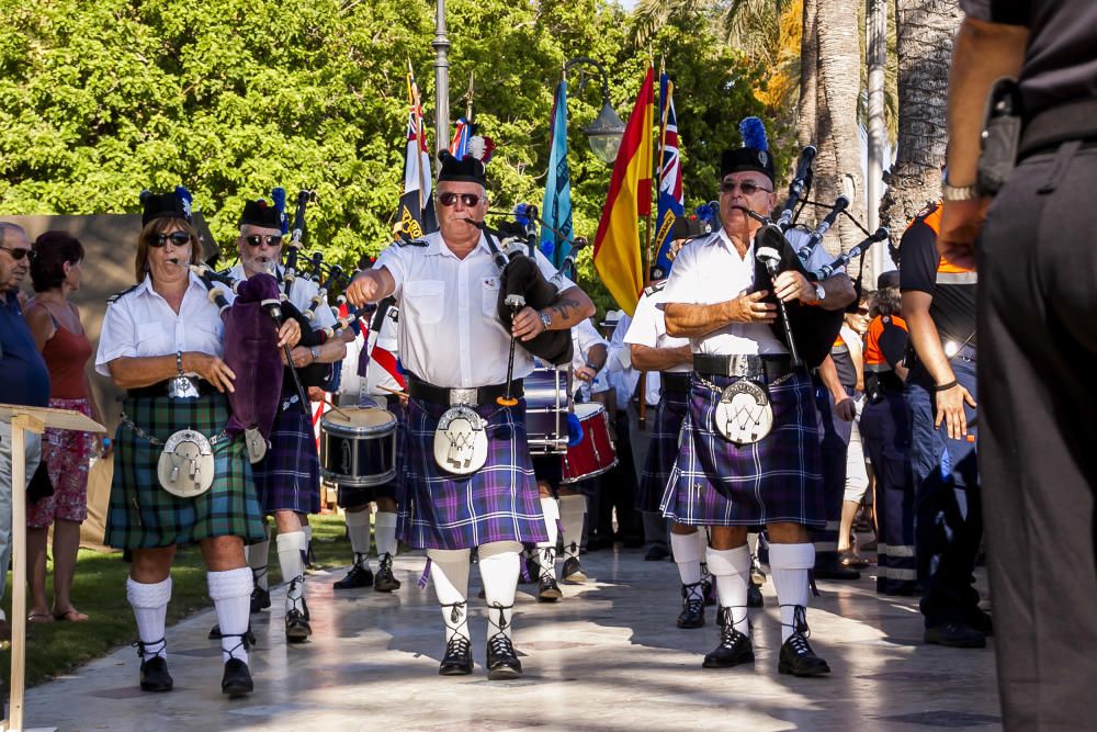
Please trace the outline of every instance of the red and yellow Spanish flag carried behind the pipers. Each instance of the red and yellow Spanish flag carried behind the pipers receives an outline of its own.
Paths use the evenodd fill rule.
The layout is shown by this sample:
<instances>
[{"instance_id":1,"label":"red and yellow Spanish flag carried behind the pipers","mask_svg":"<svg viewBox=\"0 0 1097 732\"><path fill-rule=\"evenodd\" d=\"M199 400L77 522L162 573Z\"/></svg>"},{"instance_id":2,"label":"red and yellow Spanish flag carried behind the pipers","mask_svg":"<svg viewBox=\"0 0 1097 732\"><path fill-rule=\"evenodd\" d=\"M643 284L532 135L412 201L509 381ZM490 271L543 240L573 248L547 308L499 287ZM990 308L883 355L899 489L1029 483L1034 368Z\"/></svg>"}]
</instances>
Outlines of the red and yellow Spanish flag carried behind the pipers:
<instances>
[{"instance_id":1,"label":"red and yellow Spanish flag carried behind the pipers","mask_svg":"<svg viewBox=\"0 0 1097 732\"><path fill-rule=\"evenodd\" d=\"M652 125L655 120L655 69L636 97L618 150L602 218L595 235L595 269L613 300L629 315L644 288L640 256L640 216L652 213Z\"/></svg>"}]
</instances>

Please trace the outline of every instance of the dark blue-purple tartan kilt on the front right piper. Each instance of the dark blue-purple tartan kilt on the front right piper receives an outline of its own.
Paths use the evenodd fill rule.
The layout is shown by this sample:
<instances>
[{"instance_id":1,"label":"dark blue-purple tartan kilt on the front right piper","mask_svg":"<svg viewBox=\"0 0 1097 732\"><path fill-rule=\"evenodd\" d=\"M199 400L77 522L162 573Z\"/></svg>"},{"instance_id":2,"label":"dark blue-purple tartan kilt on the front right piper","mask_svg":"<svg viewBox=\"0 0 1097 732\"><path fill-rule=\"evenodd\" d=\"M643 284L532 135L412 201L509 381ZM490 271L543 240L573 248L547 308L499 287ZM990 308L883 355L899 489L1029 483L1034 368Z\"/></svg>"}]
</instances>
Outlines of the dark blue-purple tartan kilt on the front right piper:
<instances>
[{"instance_id":1,"label":"dark blue-purple tartan kilt on the front right piper","mask_svg":"<svg viewBox=\"0 0 1097 732\"><path fill-rule=\"evenodd\" d=\"M736 381L706 376L722 390ZM737 446L714 428L720 392L690 376L689 413L666 491L664 516L688 526L801 523L823 528L823 458L812 382L804 374L769 387L773 429ZM716 491L720 483L724 494Z\"/></svg>"}]
</instances>

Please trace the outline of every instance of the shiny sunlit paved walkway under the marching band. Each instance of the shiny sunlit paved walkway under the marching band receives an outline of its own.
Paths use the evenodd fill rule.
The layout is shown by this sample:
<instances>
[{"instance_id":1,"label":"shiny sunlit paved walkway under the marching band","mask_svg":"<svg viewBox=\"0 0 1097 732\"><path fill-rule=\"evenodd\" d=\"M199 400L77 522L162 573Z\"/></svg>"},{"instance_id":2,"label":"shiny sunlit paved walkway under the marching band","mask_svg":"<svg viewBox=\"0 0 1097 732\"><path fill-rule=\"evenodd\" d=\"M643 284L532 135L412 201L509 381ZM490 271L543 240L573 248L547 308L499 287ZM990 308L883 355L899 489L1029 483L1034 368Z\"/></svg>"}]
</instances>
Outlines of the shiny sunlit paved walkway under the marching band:
<instances>
[{"instance_id":1,"label":"shiny sunlit paved walkway under the marching band","mask_svg":"<svg viewBox=\"0 0 1097 732\"><path fill-rule=\"evenodd\" d=\"M255 618L257 690L220 695L216 622L199 613L168 632L176 688L137 688L137 660L122 649L77 673L31 689L30 728L59 730L811 730L845 732L1000 729L993 642L959 651L920 643L917 606L877 598L872 581L821 583L808 621L829 678L777 673L780 628L772 583L754 610L754 668L701 668L716 643L709 622L678 630L675 565L637 551L584 555L591 582L564 587L558 605L539 605L523 585L516 640L525 677L489 683L483 668L483 601L472 620L476 671L438 676L442 623L433 589L420 590L421 556L402 556L404 587L393 595L336 593L342 572L308 583L315 631L287 647L282 593ZM104 588L105 590L106 588ZM122 588L115 588L122 592ZM479 606L478 608L476 606ZM290 667L294 669L291 673Z\"/></svg>"}]
</instances>

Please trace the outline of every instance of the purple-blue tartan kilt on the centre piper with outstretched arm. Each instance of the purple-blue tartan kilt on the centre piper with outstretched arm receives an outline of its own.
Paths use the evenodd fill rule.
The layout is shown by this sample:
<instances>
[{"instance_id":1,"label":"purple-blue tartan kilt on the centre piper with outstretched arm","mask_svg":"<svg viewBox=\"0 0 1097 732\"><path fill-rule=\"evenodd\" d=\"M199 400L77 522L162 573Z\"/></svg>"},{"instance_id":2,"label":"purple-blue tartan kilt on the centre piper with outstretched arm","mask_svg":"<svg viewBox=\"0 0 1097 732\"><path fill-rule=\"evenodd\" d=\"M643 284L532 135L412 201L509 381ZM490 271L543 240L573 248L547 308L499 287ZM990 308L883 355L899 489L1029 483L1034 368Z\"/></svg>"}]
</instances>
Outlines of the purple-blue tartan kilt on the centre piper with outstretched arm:
<instances>
[{"instance_id":1,"label":"purple-blue tartan kilt on the centre piper with outstretched arm","mask_svg":"<svg viewBox=\"0 0 1097 732\"><path fill-rule=\"evenodd\" d=\"M434 462L434 427L446 407L411 399L405 431L399 538L412 549L470 549L495 541L547 541L525 437L525 401L480 406L488 454L472 475Z\"/></svg>"}]
</instances>

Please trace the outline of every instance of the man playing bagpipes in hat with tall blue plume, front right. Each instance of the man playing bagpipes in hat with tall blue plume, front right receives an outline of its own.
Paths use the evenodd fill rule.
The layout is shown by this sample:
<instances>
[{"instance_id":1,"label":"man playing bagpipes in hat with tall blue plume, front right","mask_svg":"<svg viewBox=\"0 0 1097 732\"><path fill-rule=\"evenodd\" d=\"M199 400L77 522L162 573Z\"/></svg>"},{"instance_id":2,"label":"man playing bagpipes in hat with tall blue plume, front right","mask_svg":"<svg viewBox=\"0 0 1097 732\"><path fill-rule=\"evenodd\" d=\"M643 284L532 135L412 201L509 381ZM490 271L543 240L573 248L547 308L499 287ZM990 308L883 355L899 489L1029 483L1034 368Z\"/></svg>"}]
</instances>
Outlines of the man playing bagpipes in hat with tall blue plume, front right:
<instances>
[{"instance_id":1,"label":"man playing bagpipes in hat with tall blue plume, front right","mask_svg":"<svg viewBox=\"0 0 1097 732\"><path fill-rule=\"evenodd\" d=\"M784 224L791 224L794 199L806 187L806 153L814 148L802 156L780 227L764 227L758 219L777 201L773 164L761 123L750 120L740 126L745 147L722 156L722 227L682 247L660 305L667 334L689 338L693 353L688 412L661 506L680 525L710 527L705 559L716 576L721 641L703 665L722 668L754 661L747 530L766 525L781 612L778 669L815 676L829 667L807 643L805 618L807 572L815 563L807 529L825 522L817 416L806 367L825 358L841 315L834 333L822 337L812 333L819 325L812 320L840 311L855 295L844 272L819 281L805 277L804 271L829 261L822 247L805 256L802 267L778 273L782 262L800 259L796 245L806 235ZM798 324L807 327L793 334ZM802 347L812 341L804 361L798 358L796 340Z\"/></svg>"}]
</instances>

